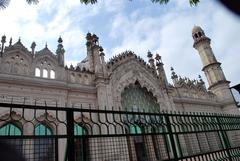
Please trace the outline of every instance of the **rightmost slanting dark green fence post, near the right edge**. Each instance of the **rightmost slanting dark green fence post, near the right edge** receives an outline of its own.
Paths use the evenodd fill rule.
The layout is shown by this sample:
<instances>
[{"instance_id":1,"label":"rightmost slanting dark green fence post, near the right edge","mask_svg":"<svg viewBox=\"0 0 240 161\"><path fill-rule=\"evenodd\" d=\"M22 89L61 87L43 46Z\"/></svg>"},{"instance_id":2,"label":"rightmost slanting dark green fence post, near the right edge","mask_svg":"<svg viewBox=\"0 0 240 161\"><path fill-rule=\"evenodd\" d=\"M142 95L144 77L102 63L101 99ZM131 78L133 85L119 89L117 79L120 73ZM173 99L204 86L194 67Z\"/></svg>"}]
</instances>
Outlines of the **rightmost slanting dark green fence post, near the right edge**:
<instances>
[{"instance_id":1,"label":"rightmost slanting dark green fence post, near the right edge","mask_svg":"<svg viewBox=\"0 0 240 161\"><path fill-rule=\"evenodd\" d=\"M229 144L228 136L226 134L226 131L224 131L222 129L222 124L221 124L221 121L219 120L219 116L216 115L216 119L217 119L217 123L218 123L218 126L219 126L220 134L222 135L223 144L226 147L225 150L227 151L227 154L228 154L228 157L229 157L229 161L232 161L232 156L231 156L231 153L229 151L229 148L231 148L231 146ZM220 138L221 141L222 141L222 139Z\"/></svg>"}]
</instances>

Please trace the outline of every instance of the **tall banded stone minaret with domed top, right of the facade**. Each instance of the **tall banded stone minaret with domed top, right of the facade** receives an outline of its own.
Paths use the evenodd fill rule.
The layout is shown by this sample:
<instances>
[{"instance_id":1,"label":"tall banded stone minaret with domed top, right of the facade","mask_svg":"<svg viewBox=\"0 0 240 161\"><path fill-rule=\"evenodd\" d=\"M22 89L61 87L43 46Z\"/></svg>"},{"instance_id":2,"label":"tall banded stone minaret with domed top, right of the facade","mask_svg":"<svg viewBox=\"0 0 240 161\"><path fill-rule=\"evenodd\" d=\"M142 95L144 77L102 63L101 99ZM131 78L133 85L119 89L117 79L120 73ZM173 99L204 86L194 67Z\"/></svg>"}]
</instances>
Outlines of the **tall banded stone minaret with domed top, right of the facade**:
<instances>
[{"instance_id":1,"label":"tall banded stone minaret with domed top, right of the facade","mask_svg":"<svg viewBox=\"0 0 240 161\"><path fill-rule=\"evenodd\" d=\"M234 101L229 89L229 81L226 80L221 68L221 63L215 58L210 46L211 39L208 38L199 26L192 30L194 40L193 47L198 50L203 63L203 69L209 84L208 89L217 95L218 100L223 103L225 110L233 110ZM231 107L230 107L231 106Z\"/></svg>"}]
</instances>

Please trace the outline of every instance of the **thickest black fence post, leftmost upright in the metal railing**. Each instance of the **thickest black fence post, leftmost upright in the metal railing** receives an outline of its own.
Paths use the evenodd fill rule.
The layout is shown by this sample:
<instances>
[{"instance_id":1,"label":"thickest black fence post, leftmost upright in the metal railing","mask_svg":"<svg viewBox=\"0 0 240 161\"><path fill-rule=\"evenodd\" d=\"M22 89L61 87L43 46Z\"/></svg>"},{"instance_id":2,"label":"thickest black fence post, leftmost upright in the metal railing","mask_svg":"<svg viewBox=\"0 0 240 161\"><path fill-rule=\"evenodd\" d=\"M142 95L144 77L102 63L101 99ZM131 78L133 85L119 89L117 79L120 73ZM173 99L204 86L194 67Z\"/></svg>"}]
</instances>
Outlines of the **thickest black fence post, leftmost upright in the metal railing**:
<instances>
[{"instance_id":1,"label":"thickest black fence post, leftmost upright in the metal railing","mask_svg":"<svg viewBox=\"0 0 240 161\"><path fill-rule=\"evenodd\" d=\"M67 110L67 160L75 161L73 110Z\"/></svg>"}]
</instances>

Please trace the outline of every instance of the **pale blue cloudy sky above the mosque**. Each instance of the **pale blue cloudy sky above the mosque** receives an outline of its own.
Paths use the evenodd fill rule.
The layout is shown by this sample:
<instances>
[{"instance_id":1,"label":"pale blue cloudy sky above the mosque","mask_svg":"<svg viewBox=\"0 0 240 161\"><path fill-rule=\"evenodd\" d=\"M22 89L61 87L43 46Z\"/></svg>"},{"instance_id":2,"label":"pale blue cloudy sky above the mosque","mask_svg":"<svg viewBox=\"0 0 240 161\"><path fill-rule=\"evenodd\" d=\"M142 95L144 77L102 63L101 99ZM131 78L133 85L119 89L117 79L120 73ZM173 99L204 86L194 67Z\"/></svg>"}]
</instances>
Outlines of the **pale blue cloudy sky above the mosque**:
<instances>
[{"instance_id":1,"label":"pale blue cloudy sky above the mosque","mask_svg":"<svg viewBox=\"0 0 240 161\"><path fill-rule=\"evenodd\" d=\"M201 26L211 38L213 52L231 86L240 83L240 17L215 0L201 0L191 7L188 0L171 0L167 5L150 0L99 0L95 5L84 5L79 0L39 0L28 5L24 0L11 0L0 10L0 35L21 38L30 50L48 48L55 53L59 36L65 48L65 63L76 65L86 57L88 32L99 37L106 60L131 50L147 61L147 52L159 53L168 81L170 67L190 79L200 74L206 78L202 63L192 40L192 28ZM7 43L8 45L8 43Z\"/></svg>"}]
</instances>

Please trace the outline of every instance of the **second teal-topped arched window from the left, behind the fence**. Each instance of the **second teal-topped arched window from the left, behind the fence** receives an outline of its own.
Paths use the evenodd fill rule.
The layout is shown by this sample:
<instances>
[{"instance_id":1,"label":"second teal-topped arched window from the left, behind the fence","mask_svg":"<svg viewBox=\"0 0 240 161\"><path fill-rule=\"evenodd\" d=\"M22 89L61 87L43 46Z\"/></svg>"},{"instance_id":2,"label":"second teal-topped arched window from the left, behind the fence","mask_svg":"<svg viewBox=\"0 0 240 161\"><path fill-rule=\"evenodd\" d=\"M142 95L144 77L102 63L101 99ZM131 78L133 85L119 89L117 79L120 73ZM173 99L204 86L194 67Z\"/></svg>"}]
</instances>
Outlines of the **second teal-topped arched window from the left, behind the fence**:
<instances>
[{"instance_id":1,"label":"second teal-topped arched window from the left, behind the fence","mask_svg":"<svg viewBox=\"0 0 240 161\"><path fill-rule=\"evenodd\" d=\"M52 135L51 129L43 124L39 124L34 129L37 136ZM40 138L34 140L34 160L53 161L54 160L54 140L53 138Z\"/></svg>"}]
</instances>

